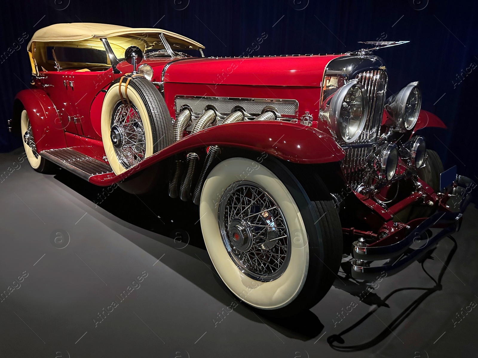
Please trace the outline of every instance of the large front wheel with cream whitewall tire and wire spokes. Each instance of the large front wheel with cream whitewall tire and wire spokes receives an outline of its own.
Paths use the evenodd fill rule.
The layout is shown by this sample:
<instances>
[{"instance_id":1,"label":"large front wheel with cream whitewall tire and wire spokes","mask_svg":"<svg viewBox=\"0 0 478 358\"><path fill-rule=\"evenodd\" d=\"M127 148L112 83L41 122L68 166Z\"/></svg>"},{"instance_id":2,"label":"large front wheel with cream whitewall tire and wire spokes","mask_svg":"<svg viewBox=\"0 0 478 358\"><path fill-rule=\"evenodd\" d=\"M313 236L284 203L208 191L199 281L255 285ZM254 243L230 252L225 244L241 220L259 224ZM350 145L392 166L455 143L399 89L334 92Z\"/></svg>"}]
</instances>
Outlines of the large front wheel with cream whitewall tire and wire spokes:
<instances>
[{"instance_id":1,"label":"large front wheel with cream whitewall tire and wire spokes","mask_svg":"<svg viewBox=\"0 0 478 358\"><path fill-rule=\"evenodd\" d=\"M315 305L336 278L337 210L332 200L311 201L278 161L222 161L204 183L199 210L217 273L255 308L293 315Z\"/></svg>"}]
</instances>

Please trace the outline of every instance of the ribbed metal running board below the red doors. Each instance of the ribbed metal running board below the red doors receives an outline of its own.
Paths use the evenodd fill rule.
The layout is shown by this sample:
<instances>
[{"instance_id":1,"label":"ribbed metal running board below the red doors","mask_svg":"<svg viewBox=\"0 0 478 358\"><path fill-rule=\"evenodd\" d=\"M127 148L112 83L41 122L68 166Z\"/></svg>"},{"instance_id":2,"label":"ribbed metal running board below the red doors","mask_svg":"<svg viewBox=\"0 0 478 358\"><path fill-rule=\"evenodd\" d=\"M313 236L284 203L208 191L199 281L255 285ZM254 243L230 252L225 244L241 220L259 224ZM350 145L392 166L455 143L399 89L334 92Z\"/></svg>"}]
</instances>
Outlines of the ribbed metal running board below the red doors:
<instances>
[{"instance_id":1,"label":"ribbed metal running board below the red doors","mask_svg":"<svg viewBox=\"0 0 478 358\"><path fill-rule=\"evenodd\" d=\"M93 175L113 172L108 163L88 157L73 148L43 150L40 155L85 180Z\"/></svg>"}]
</instances>

